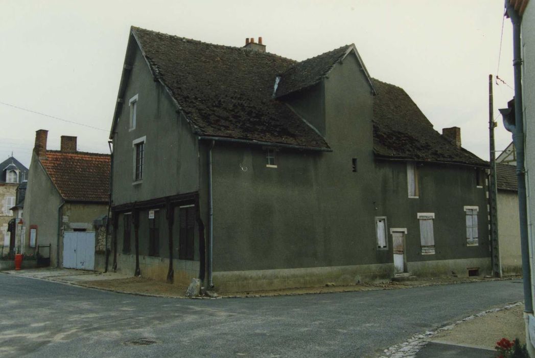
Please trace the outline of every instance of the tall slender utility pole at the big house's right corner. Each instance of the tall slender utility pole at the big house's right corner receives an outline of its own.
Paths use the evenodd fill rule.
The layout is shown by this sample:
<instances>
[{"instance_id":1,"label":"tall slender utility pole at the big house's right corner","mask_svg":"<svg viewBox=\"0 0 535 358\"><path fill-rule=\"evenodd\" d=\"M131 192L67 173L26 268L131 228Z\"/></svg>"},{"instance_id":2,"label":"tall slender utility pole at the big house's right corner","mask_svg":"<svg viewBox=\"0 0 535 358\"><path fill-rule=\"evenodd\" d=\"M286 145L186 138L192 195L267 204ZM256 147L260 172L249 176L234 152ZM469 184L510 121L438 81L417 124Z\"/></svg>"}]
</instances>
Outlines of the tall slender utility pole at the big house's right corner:
<instances>
[{"instance_id":1,"label":"tall slender utility pole at the big house's right corner","mask_svg":"<svg viewBox=\"0 0 535 358\"><path fill-rule=\"evenodd\" d=\"M492 74L488 75L488 146L491 162L491 173L489 176L488 201L491 218L491 255L492 255L492 276L501 277L500 250L498 243L498 189L496 188L496 151L494 148L494 108L492 98Z\"/></svg>"}]
</instances>

